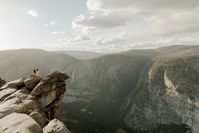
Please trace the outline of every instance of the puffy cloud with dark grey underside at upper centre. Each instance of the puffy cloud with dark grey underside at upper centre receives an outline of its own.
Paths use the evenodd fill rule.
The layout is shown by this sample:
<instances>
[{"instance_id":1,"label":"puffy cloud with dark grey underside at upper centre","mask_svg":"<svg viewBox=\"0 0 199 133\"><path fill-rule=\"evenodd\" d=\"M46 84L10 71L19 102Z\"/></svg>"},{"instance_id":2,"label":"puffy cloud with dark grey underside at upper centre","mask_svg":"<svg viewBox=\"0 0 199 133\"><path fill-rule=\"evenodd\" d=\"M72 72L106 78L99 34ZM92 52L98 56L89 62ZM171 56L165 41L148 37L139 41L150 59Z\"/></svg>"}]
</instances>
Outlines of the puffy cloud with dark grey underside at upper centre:
<instances>
[{"instance_id":1,"label":"puffy cloud with dark grey underside at upper centre","mask_svg":"<svg viewBox=\"0 0 199 133\"><path fill-rule=\"evenodd\" d=\"M72 22L72 28L83 33L126 25L131 18L119 12L80 15Z\"/></svg>"}]
</instances>

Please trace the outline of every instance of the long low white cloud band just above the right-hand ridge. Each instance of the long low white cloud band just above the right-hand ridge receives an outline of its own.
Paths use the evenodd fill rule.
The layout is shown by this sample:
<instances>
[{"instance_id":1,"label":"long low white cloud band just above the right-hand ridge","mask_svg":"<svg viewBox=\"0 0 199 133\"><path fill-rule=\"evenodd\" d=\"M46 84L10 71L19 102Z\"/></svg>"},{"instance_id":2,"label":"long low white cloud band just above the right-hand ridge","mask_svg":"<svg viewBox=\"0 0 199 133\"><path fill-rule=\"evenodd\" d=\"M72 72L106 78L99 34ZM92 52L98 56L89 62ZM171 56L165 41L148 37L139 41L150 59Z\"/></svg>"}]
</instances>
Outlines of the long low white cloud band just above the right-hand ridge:
<instances>
[{"instance_id":1,"label":"long low white cloud band just above the right-hand ridge","mask_svg":"<svg viewBox=\"0 0 199 133\"><path fill-rule=\"evenodd\" d=\"M133 32L121 32L118 34L111 34L108 36L98 37L93 41L93 44L99 46L109 46L116 49L122 48L124 50L135 48L157 48L169 45L188 45L198 44L199 32L194 35L173 35L173 36L159 36L148 37L148 33L145 36L142 34L136 34Z\"/></svg>"}]
</instances>

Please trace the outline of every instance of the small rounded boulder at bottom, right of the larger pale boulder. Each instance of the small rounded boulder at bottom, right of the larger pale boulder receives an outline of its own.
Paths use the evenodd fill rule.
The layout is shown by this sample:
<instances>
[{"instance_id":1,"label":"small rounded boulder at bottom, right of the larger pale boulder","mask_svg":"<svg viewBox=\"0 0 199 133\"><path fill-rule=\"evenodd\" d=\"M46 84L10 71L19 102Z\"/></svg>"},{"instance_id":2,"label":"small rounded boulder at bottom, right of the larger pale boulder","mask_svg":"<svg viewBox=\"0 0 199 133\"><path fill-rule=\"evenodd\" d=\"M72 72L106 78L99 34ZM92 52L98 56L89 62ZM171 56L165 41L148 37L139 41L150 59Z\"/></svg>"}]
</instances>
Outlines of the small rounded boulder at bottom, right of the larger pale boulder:
<instances>
[{"instance_id":1,"label":"small rounded boulder at bottom, right of the larger pale boulder","mask_svg":"<svg viewBox=\"0 0 199 133\"><path fill-rule=\"evenodd\" d=\"M46 127L43 128L43 133L71 133L70 130L57 119L51 120Z\"/></svg>"}]
</instances>

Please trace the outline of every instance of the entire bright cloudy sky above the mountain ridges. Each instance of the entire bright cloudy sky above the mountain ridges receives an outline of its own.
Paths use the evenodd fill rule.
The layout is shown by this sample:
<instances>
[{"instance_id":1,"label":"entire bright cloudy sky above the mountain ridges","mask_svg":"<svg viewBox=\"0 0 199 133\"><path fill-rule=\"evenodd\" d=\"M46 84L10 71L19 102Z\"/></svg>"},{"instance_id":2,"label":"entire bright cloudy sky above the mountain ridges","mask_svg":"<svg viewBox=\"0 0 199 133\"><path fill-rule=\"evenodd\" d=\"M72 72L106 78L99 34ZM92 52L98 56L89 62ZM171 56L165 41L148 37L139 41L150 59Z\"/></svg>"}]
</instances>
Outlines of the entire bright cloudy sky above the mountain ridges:
<instances>
[{"instance_id":1,"label":"entire bright cloudy sky above the mountain ridges","mask_svg":"<svg viewBox=\"0 0 199 133\"><path fill-rule=\"evenodd\" d=\"M199 44L198 0L0 0L0 50Z\"/></svg>"}]
</instances>

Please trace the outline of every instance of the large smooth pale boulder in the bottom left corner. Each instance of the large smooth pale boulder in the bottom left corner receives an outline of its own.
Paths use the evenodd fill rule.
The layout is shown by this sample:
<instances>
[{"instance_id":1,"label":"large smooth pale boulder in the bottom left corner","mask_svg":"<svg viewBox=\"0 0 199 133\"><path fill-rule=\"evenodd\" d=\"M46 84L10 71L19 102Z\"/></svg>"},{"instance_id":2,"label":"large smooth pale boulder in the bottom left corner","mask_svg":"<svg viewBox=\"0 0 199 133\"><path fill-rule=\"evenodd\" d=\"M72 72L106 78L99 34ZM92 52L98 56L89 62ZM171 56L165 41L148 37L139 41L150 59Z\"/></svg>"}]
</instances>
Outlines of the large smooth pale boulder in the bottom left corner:
<instances>
[{"instance_id":1,"label":"large smooth pale boulder in the bottom left corner","mask_svg":"<svg viewBox=\"0 0 199 133\"><path fill-rule=\"evenodd\" d=\"M42 133L40 125L26 114L12 113L0 119L1 133Z\"/></svg>"}]
</instances>

